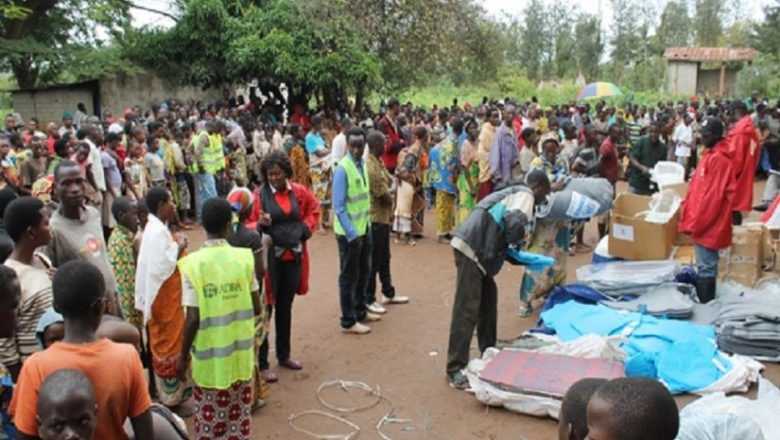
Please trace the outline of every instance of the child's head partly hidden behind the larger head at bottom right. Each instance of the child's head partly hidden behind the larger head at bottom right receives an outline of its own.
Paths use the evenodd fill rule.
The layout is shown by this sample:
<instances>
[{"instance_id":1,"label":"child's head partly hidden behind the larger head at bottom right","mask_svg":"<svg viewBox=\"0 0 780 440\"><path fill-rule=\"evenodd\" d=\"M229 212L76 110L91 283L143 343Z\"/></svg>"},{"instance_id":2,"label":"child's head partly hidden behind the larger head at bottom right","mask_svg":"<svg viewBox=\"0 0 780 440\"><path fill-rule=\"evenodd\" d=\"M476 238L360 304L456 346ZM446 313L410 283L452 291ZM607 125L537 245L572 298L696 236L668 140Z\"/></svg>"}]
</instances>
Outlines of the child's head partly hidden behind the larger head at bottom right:
<instances>
[{"instance_id":1,"label":"child's head partly hidden behind the larger head at bottom right","mask_svg":"<svg viewBox=\"0 0 780 440\"><path fill-rule=\"evenodd\" d=\"M586 378L569 387L558 416L558 440L585 440L588 436L588 402L605 383L606 379Z\"/></svg>"}]
</instances>

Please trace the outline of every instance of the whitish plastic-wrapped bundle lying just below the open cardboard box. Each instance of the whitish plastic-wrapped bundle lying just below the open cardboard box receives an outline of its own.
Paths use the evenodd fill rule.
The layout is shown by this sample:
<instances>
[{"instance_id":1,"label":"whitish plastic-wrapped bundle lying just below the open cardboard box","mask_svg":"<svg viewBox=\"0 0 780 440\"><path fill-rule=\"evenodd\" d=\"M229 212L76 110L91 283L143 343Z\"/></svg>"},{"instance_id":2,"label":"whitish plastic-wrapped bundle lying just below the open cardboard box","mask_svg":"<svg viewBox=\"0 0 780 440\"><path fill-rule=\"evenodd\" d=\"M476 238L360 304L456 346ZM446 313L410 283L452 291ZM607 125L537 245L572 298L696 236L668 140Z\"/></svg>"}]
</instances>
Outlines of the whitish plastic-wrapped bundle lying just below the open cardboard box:
<instances>
[{"instance_id":1,"label":"whitish plastic-wrapped bundle lying just below the open cardboard box","mask_svg":"<svg viewBox=\"0 0 780 440\"><path fill-rule=\"evenodd\" d=\"M618 261L577 269L577 282L611 296L642 295L659 284L673 282L680 272L673 260Z\"/></svg>"}]
</instances>

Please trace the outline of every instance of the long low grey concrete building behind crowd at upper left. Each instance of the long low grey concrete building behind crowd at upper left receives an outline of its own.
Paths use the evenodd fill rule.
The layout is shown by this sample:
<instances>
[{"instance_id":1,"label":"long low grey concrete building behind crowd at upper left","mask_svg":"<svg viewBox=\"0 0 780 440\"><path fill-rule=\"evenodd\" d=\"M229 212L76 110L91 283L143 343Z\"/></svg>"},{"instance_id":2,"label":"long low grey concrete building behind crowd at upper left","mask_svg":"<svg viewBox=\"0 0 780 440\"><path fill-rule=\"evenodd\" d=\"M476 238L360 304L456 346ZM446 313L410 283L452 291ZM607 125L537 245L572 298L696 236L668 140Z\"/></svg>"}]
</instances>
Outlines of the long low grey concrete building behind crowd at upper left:
<instances>
[{"instance_id":1,"label":"long low grey concrete building behind crowd at upper left","mask_svg":"<svg viewBox=\"0 0 780 440\"><path fill-rule=\"evenodd\" d=\"M151 73L119 74L11 92L14 111L25 120L38 118L42 127L50 121L60 122L66 111L75 112L79 102L84 103L90 115L101 115L110 111L114 116L118 116L127 107L139 105L146 109L153 103L169 98L185 102L210 102L220 99L221 96L219 89L201 90L197 87L171 85Z\"/></svg>"}]
</instances>

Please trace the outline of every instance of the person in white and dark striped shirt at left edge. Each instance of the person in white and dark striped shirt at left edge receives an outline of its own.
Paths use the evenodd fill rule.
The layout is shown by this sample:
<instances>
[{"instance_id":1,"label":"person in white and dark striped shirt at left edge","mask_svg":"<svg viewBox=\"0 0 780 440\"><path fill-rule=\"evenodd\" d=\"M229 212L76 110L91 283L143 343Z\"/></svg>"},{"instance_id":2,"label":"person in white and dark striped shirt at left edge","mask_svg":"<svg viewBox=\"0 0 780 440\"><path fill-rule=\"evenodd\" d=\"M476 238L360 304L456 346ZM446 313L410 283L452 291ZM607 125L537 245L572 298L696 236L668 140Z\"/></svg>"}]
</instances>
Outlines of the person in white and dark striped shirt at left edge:
<instances>
[{"instance_id":1,"label":"person in white and dark striped shirt at left edge","mask_svg":"<svg viewBox=\"0 0 780 440\"><path fill-rule=\"evenodd\" d=\"M17 309L16 336L0 339L0 359L14 379L21 363L40 350L35 330L38 319L51 307L52 290L48 270L51 267L35 249L51 240L49 212L35 197L20 197L5 210L5 227L14 241L14 250L5 265L16 272L22 288Z\"/></svg>"}]
</instances>

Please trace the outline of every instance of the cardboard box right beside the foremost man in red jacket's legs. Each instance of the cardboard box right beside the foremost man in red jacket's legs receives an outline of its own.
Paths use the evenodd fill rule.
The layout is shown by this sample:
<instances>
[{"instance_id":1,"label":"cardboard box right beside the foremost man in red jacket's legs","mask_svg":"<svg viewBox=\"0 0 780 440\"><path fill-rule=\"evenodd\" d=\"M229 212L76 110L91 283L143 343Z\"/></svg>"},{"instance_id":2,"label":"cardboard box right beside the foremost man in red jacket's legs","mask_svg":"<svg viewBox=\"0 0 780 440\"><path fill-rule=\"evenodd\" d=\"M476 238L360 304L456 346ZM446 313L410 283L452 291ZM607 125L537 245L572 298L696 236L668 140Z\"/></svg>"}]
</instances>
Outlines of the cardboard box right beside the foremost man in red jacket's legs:
<instances>
[{"instance_id":1,"label":"cardboard box right beside the foremost man in red jacket's legs","mask_svg":"<svg viewBox=\"0 0 780 440\"><path fill-rule=\"evenodd\" d=\"M720 251L718 278L753 287L763 274L764 234L760 225L735 226L731 247Z\"/></svg>"}]
</instances>

